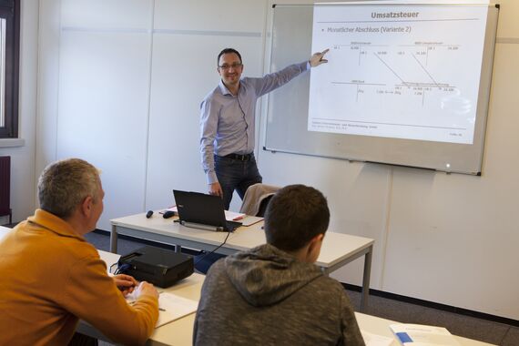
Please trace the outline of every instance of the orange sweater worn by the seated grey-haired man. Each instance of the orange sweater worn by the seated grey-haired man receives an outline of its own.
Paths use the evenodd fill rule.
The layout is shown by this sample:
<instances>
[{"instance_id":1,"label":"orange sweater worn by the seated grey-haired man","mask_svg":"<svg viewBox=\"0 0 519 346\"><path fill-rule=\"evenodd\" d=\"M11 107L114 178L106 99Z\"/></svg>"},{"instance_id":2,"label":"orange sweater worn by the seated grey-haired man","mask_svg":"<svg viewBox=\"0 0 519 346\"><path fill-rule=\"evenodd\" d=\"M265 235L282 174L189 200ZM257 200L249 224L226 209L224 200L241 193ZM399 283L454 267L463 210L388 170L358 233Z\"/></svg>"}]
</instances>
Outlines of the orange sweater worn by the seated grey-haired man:
<instances>
[{"instance_id":1,"label":"orange sweater worn by the seated grey-haired man","mask_svg":"<svg viewBox=\"0 0 519 346\"><path fill-rule=\"evenodd\" d=\"M78 319L112 341L143 344L158 301L129 306L97 250L63 219L37 209L0 241L0 344L66 345Z\"/></svg>"}]
</instances>

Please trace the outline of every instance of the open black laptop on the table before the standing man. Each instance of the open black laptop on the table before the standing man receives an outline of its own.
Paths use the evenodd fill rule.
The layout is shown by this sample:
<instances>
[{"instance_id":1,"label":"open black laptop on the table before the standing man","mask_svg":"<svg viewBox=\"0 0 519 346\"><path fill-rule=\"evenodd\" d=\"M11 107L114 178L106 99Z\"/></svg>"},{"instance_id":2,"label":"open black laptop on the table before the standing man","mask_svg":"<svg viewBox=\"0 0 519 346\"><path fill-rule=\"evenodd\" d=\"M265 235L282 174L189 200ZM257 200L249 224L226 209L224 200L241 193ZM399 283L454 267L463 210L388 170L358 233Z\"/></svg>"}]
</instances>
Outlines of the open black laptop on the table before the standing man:
<instances>
[{"instance_id":1,"label":"open black laptop on the table before the standing man","mask_svg":"<svg viewBox=\"0 0 519 346\"><path fill-rule=\"evenodd\" d=\"M232 232L241 222L225 219L223 199L219 196L174 189L180 224L195 229Z\"/></svg>"}]
</instances>

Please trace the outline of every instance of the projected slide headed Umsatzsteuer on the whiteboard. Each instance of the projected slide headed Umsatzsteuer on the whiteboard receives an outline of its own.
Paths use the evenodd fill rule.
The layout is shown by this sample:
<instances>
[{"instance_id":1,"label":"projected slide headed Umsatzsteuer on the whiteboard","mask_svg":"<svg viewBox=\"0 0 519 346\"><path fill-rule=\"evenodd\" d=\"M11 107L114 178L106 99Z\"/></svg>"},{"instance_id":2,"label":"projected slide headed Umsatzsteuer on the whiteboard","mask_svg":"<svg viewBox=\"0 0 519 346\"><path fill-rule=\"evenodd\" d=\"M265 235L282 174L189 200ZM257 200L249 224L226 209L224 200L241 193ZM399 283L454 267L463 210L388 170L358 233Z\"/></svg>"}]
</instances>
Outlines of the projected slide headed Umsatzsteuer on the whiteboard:
<instances>
[{"instance_id":1,"label":"projected slide headed Umsatzsteuer on the whiteboard","mask_svg":"<svg viewBox=\"0 0 519 346\"><path fill-rule=\"evenodd\" d=\"M308 130L473 144L485 5L315 5Z\"/></svg>"}]
</instances>

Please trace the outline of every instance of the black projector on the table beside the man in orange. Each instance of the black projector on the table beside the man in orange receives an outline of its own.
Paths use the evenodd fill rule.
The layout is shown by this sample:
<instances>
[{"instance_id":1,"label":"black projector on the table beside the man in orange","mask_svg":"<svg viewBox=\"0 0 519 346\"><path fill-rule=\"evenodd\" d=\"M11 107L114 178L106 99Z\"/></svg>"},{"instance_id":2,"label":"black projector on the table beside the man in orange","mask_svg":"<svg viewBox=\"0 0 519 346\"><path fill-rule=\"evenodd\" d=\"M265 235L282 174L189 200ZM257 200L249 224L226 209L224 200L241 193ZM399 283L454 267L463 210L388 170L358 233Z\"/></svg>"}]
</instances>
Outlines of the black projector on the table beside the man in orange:
<instances>
[{"instance_id":1,"label":"black projector on the table beside the man in orange","mask_svg":"<svg viewBox=\"0 0 519 346\"><path fill-rule=\"evenodd\" d=\"M195 270L193 258L169 249L145 246L121 256L119 272L167 288L178 280L187 278Z\"/></svg>"}]
</instances>

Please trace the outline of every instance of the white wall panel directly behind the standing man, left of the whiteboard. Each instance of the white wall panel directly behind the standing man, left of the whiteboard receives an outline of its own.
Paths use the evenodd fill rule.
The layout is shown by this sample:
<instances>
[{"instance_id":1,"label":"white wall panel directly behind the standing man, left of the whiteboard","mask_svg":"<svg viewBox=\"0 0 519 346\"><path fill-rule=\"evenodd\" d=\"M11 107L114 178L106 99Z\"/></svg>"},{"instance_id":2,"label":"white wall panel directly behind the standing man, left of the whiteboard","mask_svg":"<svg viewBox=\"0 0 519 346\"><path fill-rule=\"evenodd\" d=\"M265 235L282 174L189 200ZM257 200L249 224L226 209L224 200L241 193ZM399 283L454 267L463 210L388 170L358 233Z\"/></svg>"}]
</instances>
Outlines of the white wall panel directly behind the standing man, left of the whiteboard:
<instances>
[{"instance_id":1,"label":"white wall panel directly behind the standing man, left of the whiteboard","mask_svg":"<svg viewBox=\"0 0 519 346\"><path fill-rule=\"evenodd\" d=\"M263 1L156 0L147 209L170 205L173 188L207 191L198 151L200 102L219 83L224 46L247 56L249 75L261 75L265 15ZM237 197L233 202L239 206Z\"/></svg>"}]
</instances>

